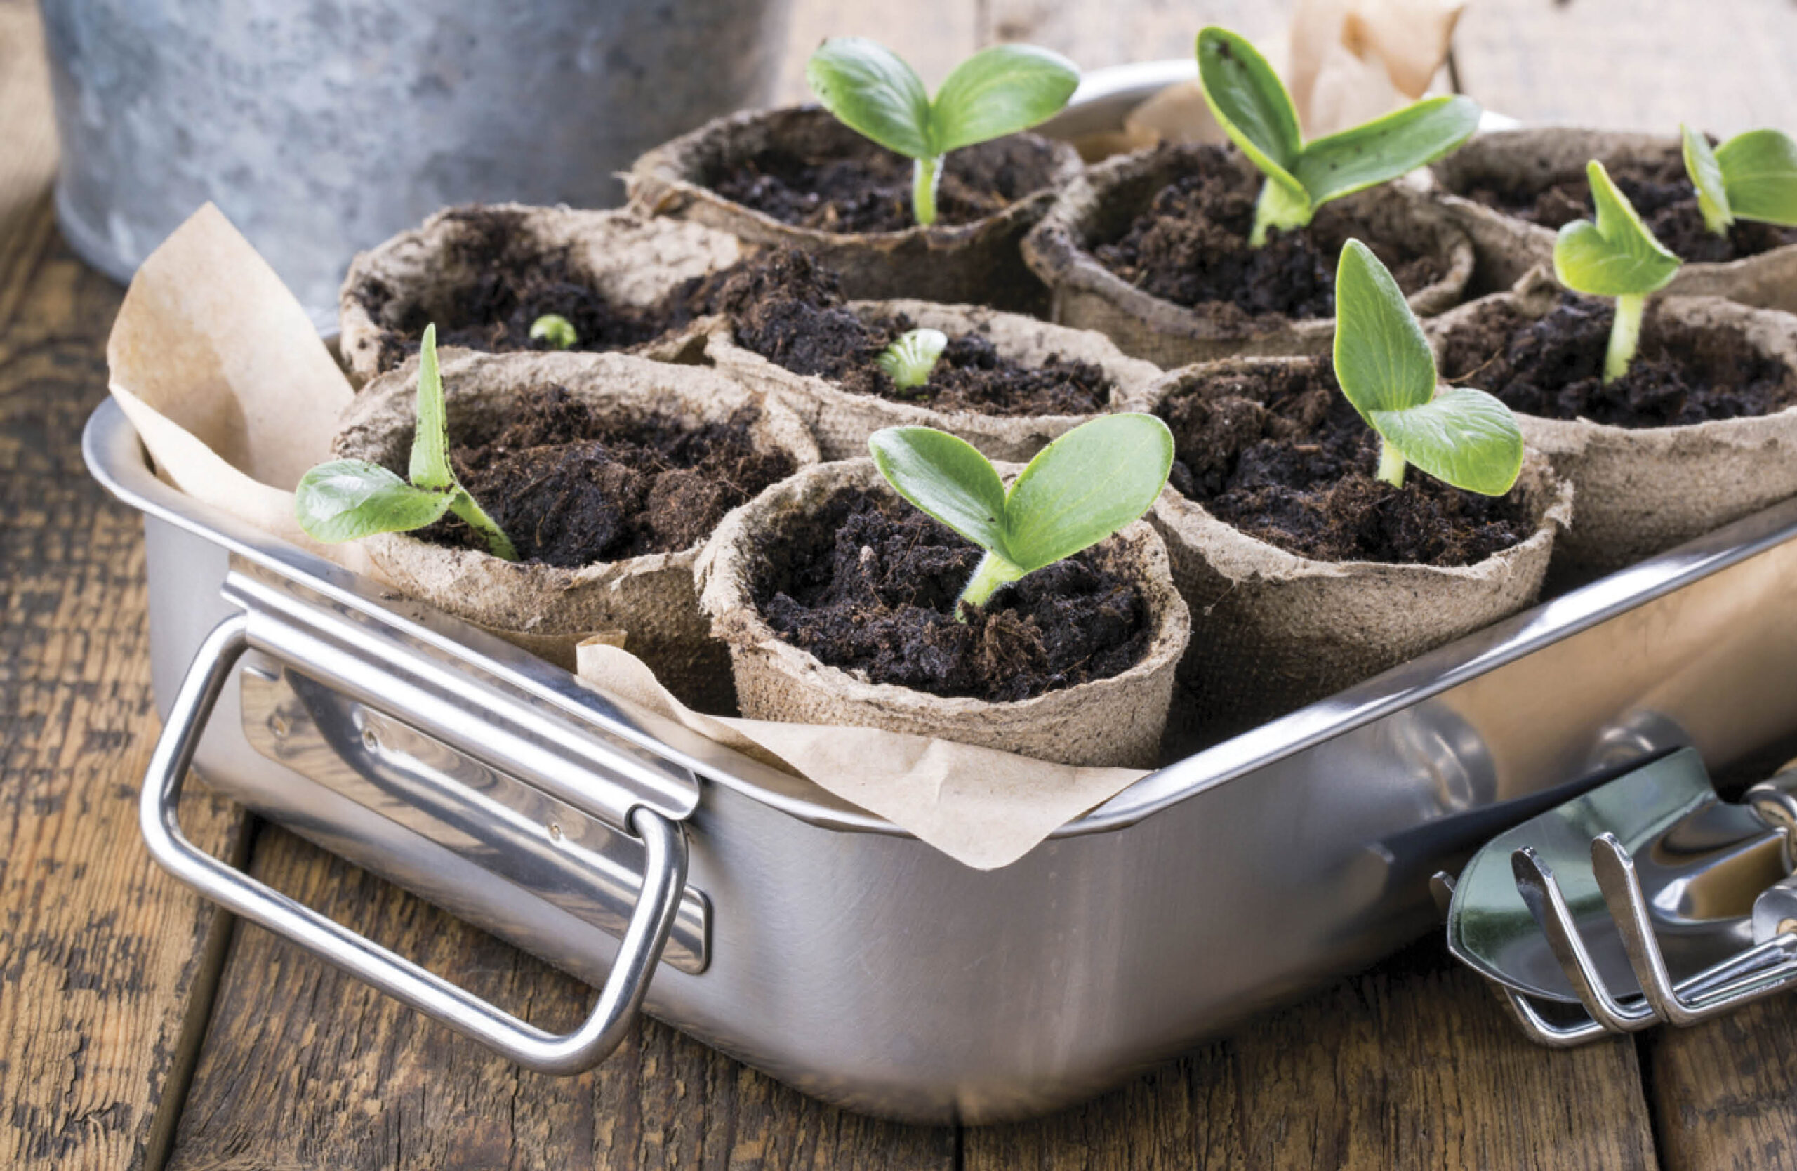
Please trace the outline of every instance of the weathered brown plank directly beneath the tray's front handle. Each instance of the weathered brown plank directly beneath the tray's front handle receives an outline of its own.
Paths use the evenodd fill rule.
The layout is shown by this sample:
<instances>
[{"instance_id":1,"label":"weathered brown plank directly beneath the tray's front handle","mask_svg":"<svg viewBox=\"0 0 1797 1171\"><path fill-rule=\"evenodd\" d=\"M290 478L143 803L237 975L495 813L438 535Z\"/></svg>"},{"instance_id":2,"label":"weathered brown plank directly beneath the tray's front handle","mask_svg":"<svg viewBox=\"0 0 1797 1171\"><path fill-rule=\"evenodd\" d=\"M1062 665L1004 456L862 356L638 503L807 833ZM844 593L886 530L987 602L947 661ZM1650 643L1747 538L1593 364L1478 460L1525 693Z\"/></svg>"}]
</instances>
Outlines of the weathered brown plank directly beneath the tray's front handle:
<instances>
[{"instance_id":1,"label":"weathered brown plank directly beneath the tray's front handle","mask_svg":"<svg viewBox=\"0 0 1797 1171\"><path fill-rule=\"evenodd\" d=\"M548 1029L591 990L422 900L264 830L255 873ZM171 1167L927 1169L954 1133L830 1110L656 1022L579 1078L492 1058L239 927Z\"/></svg>"}]
</instances>

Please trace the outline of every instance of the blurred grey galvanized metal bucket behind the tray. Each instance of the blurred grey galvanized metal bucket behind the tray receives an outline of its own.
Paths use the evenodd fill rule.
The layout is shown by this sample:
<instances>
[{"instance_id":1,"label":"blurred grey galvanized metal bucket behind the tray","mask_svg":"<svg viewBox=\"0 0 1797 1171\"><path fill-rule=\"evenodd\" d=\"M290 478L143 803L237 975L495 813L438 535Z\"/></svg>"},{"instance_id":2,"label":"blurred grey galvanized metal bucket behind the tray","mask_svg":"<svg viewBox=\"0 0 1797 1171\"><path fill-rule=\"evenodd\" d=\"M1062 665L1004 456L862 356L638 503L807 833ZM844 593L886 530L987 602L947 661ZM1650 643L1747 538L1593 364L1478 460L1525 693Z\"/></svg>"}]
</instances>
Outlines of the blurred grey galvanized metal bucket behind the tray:
<instances>
[{"instance_id":1,"label":"blurred grey galvanized metal bucket behind the tray","mask_svg":"<svg viewBox=\"0 0 1797 1171\"><path fill-rule=\"evenodd\" d=\"M320 327L349 259L469 201L615 172L766 104L789 0L43 0L75 251L128 280L210 199Z\"/></svg>"}]
</instances>

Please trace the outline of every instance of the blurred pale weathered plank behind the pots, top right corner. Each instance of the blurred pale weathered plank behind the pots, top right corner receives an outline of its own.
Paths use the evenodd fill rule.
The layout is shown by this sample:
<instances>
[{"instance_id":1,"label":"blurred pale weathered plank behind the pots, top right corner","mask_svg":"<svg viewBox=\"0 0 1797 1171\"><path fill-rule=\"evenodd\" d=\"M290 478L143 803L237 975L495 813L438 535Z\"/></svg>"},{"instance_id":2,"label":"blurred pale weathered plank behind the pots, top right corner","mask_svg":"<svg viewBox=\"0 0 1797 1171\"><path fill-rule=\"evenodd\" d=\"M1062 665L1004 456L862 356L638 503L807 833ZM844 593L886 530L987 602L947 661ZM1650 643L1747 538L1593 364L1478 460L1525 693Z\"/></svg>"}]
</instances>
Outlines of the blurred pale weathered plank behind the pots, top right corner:
<instances>
[{"instance_id":1,"label":"blurred pale weathered plank behind the pots, top right corner","mask_svg":"<svg viewBox=\"0 0 1797 1171\"><path fill-rule=\"evenodd\" d=\"M1466 93L1526 122L1797 129L1786 0L1477 0L1454 45Z\"/></svg>"}]
</instances>

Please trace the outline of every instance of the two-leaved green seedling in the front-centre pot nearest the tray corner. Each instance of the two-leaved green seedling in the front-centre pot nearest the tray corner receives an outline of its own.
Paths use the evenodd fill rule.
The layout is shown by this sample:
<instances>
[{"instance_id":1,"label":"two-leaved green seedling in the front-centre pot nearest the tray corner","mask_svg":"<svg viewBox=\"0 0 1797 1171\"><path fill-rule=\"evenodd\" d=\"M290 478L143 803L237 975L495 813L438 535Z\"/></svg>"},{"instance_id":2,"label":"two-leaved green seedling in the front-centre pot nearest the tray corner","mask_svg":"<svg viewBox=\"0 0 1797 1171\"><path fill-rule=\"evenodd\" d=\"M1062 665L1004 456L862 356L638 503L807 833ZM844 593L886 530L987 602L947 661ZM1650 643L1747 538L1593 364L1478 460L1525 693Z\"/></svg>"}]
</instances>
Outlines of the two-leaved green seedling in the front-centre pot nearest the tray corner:
<instances>
[{"instance_id":1,"label":"two-leaved green seedling in the front-centre pot nearest the tray corner","mask_svg":"<svg viewBox=\"0 0 1797 1171\"><path fill-rule=\"evenodd\" d=\"M999 586L1145 514L1173 467L1173 433L1154 415L1080 424L1035 453L1010 490L990 460L947 431L886 427L868 449L898 496L985 550L956 602L958 618Z\"/></svg>"}]
</instances>

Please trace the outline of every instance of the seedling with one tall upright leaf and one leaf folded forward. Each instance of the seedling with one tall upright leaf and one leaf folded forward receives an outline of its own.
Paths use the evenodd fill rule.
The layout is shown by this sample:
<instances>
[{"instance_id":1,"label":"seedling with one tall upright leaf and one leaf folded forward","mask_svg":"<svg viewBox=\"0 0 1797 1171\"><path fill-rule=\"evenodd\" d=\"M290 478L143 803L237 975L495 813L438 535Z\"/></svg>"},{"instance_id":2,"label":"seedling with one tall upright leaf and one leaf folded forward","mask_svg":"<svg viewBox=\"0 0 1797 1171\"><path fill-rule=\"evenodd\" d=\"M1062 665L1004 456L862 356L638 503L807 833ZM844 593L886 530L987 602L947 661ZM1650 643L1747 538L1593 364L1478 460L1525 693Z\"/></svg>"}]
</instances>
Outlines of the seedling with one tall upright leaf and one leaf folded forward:
<instances>
[{"instance_id":1,"label":"seedling with one tall upright leaf and one leaf folded forward","mask_svg":"<svg viewBox=\"0 0 1797 1171\"><path fill-rule=\"evenodd\" d=\"M1335 381L1378 431L1378 478L1403 487L1409 463L1436 480L1502 496L1522 472L1522 429L1483 390L1436 384L1436 357L1403 291L1360 241L1335 269Z\"/></svg>"}]
</instances>

